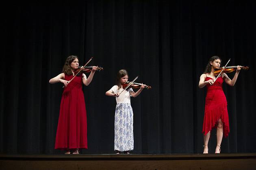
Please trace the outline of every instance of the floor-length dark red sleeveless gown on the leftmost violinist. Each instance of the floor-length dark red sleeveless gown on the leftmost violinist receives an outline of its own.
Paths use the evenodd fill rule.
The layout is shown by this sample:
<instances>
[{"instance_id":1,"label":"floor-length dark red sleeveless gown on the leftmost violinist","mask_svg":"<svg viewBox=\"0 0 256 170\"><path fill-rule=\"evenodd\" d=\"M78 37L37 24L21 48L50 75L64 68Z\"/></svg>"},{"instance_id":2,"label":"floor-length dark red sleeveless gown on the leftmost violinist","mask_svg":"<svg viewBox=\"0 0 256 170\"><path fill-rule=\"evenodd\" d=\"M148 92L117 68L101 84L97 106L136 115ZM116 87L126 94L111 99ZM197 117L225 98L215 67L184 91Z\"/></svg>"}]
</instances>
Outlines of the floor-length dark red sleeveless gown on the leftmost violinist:
<instances>
[{"instance_id":1,"label":"floor-length dark red sleeveless gown on the leftmost violinist","mask_svg":"<svg viewBox=\"0 0 256 170\"><path fill-rule=\"evenodd\" d=\"M73 75L66 75L69 81ZM82 91L82 74L65 87L56 133L55 149L87 149L87 117L85 97Z\"/></svg>"}]
</instances>

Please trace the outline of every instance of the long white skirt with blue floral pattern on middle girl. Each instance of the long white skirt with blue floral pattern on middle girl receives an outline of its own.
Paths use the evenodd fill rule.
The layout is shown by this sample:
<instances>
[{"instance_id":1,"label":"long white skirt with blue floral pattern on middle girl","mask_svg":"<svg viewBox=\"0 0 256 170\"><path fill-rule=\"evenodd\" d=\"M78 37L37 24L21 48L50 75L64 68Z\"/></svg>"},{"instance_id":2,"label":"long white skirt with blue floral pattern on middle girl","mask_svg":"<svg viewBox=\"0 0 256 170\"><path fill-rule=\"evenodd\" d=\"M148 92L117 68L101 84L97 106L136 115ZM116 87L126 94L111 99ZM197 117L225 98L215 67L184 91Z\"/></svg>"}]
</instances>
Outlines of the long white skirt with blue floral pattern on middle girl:
<instances>
[{"instance_id":1,"label":"long white skirt with blue floral pattern on middle girl","mask_svg":"<svg viewBox=\"0 0 256 170\"><path fill-rule=\"evenodd\" d=\"M133 150L133 112L130 103L118 103L115 108L115 151Z\"/></svg>"}]
</instances>

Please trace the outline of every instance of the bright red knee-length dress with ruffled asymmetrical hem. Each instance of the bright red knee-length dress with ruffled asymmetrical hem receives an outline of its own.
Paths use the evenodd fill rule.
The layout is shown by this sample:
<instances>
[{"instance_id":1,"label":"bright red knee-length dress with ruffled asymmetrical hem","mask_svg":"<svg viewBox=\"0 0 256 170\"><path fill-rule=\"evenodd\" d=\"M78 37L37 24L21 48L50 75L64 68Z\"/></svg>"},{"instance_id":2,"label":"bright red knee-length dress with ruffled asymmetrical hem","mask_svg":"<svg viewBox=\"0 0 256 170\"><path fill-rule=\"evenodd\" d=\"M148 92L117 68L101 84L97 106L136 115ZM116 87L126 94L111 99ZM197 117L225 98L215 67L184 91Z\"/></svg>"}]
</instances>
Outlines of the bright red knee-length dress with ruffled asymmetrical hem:
<instances>
[{"instance_id":1,"label":"bright red knee-length dress with ruffled asymmetrical hem","mask_svg":"<svg viewBox=\"0 0 256 170\"><path fill-rule=\"evenodd\" d=\"M212 79L207 77L205 81ZM228 109L226 96L222 89L223 78L218 77L213 85L207 84L207 94L205 98L203 133L206 135L212 128L217 127L217 122L221 119L223 123L224 137L229 133Z\"/></svg>"}]
</instances>

